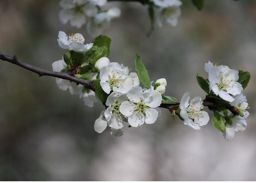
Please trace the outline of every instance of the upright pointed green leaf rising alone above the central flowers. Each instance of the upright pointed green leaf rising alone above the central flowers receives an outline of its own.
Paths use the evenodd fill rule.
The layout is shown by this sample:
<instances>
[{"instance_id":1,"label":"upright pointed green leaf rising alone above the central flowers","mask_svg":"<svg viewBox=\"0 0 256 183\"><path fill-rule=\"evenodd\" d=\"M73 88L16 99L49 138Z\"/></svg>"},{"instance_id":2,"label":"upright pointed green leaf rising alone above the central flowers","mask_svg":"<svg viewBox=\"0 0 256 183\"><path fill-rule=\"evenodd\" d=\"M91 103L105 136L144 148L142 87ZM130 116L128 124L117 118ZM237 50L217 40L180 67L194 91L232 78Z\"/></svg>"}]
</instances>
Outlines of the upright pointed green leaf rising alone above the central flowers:
<instances>
[{"instance_id":1,"label":"upright pointed green leaf rising alone above the central flowers","mask_svg":"<svg viewBox=\"0 0 256 183\"><path fill-rule=\"evenodd\" d=\"M137 75L138 75L142 85L145 88L150 89L151 82L150 82L150 78L148 75L148 71L145 68L145 66L138 54L136 54L136 57L135 57L135 70L137 72Z\"/></svg>"}]
</instances>

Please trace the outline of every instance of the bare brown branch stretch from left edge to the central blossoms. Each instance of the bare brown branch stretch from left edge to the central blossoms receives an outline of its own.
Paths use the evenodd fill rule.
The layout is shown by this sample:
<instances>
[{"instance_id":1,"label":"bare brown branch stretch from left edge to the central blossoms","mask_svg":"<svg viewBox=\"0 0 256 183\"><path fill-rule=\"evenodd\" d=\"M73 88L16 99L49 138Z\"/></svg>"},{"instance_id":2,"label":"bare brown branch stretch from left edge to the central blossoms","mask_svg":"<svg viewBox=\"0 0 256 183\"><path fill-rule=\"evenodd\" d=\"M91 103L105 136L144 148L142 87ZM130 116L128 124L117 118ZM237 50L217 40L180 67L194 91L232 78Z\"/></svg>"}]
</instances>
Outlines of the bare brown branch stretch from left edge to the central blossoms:
<instances>
[{"instance_id":1,"label":"bare brown branch stretch from left edge to the central blossoms","mask_svg":"<svg viewBox=\"0 0 256 183\"><path fill-rule=\"evenodd\" d=\"M95 91L95 84L89 80L84 80L81 78L77 78L74 76L71 76L70 74L67 74L65 72L54 72L54 71L47 71L45 69L41 69L39 67L36 66L32 66L28 63L22 62L20 60L17 59L16 55L11 57L3 52L0 51L0 59L13 63L17 66L23 67L24 69L27 69L29 71L35 72L37 73L40 77L41 76L52 76L52 77L58 77L64 80L70 80L73 81L77 84L81 84L84 85L85 87L87 87L88 89L91 89L93 91Z\"/></svg>"}]
</instances>

